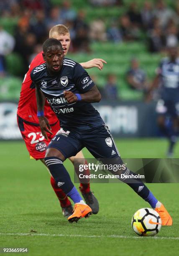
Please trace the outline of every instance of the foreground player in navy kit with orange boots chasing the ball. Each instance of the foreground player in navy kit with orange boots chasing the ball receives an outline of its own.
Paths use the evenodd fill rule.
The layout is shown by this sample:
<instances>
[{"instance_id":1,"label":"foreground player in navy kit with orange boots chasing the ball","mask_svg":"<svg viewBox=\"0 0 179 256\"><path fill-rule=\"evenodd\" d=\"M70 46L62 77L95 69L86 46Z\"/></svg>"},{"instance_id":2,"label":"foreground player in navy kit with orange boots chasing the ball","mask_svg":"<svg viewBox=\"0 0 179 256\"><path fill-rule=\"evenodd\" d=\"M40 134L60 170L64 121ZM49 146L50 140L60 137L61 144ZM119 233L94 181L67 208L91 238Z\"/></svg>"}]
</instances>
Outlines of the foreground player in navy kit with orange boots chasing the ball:
<instances>
[{"instance_id":1,"label":"foreground player in navy kit with orange boots chasing the ball","mask_svg":"<svg viewBox=\"0 0 179 256\"><path fill-rule=\"evenodd\" d=\"M77 62L64 58L61 43L54 38L43 43L43 58L46 63L31 72L31 79L36 84L37 115L43 136L47 138L46 133L51 133L43 114L45 98L61 121L61 129L47 148L45 162L56 184L74 202L74 212L69 216L69 222L77 222L80 218L89 217L92 210L74 187L63 161L84 147L101 161L108 159L110 164L121 165L123 161L107 126L91 105L91 102L99 102L101 95L87 72ZM133 173L125 167L121 174ZM172 225L171 216L164 205L141 180L130 179L130 183L128 179L122 181L159 212L162 225Z\"/></svg>"}]
</instances>

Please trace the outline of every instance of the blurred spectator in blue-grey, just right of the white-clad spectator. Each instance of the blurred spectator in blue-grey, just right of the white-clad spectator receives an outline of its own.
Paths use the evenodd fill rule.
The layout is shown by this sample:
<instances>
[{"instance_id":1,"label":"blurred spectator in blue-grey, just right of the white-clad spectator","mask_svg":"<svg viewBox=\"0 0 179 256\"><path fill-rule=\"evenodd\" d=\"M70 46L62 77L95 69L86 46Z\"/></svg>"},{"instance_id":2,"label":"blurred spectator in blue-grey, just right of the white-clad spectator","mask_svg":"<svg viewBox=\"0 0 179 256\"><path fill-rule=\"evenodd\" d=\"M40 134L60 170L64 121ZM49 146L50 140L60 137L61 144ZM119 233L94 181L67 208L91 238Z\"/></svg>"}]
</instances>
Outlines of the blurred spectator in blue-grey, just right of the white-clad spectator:
<instances>
[{"instance_id":1,"label":"blurred spectator in blue-grey, just right of the white-clad spectator","mask_svg":"<svg viewBox=\"0 0 179 256\"><path fill-rule=\"evenodd\" d=\"M117 21L114 20L111 23L111 26L107 29L107 38L115 43L122 41L123 38Z\"/></svg>"}]
</instances>

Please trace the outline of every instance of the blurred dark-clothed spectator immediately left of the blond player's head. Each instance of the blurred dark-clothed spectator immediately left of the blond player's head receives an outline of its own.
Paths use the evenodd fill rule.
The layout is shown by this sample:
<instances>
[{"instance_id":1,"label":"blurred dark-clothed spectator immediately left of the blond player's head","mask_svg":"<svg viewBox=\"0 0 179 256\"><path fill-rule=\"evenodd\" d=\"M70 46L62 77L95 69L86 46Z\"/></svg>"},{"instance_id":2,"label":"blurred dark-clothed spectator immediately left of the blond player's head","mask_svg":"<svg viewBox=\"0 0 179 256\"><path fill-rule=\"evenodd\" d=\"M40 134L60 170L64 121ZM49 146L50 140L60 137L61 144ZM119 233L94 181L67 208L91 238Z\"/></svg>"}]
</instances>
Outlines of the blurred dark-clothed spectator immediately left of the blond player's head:
<instances>
[{"instance_id":1,"label":"blurred dark-clothed spectator immediately left of the blond player's head","mask_svg":"<svg viewBox=\"0 0 179 256\"><path fill-rule=\"evenodd\" d=\"M36 12L35 18L31 20L31 32L35 34L37 43L42 44L48 38L45 14L42 10Z\"/></svg>"}]
</instances>

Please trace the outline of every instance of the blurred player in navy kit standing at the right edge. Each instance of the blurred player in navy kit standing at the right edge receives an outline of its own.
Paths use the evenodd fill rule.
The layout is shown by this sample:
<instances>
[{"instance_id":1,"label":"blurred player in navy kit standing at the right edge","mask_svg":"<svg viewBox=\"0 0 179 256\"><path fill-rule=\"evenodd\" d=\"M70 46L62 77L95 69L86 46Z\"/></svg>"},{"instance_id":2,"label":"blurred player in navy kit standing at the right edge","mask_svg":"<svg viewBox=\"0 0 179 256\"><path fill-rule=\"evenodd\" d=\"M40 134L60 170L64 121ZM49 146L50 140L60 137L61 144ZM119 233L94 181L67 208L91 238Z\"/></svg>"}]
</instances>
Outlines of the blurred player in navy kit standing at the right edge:
<instances>
[{"instance_id":1,"label":"blurred player in navy kit standing at the right edge","mask_svg":"<svg viewBox=\"0 0 179 256\"><path fill-rule=\"evenodd\" d=\"M169 139L167 156L172 157L179 133L178 48L168 48L168 55L168 58L161 61L150 91L161 85L160 99L156 105L157 122L161 132ZM170 118L171 127L166 124L167 118Z\"/></svg>"}]
</instances>

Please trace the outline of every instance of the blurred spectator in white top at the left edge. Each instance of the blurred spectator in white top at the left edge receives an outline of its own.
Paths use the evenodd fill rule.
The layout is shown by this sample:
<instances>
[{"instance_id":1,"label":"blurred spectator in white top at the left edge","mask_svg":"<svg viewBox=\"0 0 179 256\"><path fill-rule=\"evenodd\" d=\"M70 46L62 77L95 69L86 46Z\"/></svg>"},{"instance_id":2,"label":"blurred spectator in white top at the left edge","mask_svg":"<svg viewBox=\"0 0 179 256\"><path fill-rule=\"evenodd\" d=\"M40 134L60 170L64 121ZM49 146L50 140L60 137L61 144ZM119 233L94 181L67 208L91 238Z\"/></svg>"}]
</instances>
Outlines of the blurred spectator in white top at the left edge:
<instances>
[{"instance_id":1,"label":"blurred spectator in white top at the left edge","mask_svg":"<svg viewBox=\"0 0 179 256\"><path fill-rule=\"evenodd\" d=\"M5 75L5 55L13 51L15 40L0 26L0 77Z\"/></svg>"}]
</instances>

